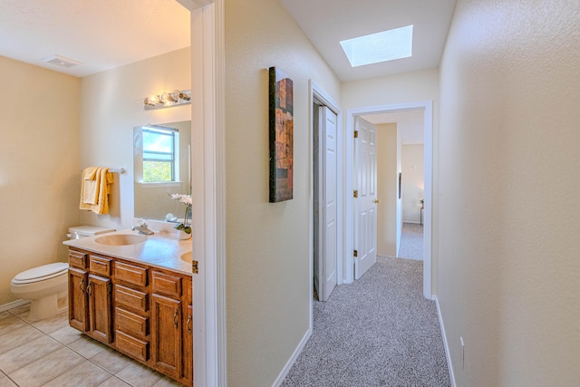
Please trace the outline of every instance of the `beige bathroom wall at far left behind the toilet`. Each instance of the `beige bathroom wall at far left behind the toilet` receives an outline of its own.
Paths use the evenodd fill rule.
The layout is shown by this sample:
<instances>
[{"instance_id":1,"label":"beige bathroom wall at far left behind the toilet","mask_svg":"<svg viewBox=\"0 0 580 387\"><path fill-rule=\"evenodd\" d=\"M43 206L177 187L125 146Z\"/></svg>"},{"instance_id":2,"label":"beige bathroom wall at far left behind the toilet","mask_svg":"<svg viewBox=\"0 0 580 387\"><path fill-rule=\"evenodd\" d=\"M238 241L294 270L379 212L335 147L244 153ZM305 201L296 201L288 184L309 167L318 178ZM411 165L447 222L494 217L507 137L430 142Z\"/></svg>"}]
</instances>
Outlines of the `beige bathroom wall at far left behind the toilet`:
<instances>
[{"instance_id":1,"label":"beige bathroom wall at far left behind the toilet","mask_svg":"<svg viewBox=\"0 0 580 387\"><path fill-rule=\"evenodd\" d=\"M0 305L14 275L66 261L80 218L79 79L0 57Z\"/></svg>"}]
</instances>

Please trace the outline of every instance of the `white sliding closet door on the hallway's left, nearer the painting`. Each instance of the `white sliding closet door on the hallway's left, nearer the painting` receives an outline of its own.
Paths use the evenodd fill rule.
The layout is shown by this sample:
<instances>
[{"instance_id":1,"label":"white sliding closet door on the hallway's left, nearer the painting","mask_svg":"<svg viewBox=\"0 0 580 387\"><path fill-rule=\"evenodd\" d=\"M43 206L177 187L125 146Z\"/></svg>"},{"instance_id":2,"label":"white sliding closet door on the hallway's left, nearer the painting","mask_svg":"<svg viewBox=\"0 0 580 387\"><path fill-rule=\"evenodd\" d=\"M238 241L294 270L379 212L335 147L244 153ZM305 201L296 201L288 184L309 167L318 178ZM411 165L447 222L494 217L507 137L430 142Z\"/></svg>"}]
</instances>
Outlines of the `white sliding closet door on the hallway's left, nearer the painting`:
<instances>
[{"instance_id":1,"label":"white sliding closet door on the hallway's left, nearer the painting","mask_svg":"<svg viewBox=\"0 0 580 387\"><path fill-rule=\"evenodd\" d=\"M315 158L317 158L317 162L314 161L314 164L319 167L318 173L314 172L314 179L317 179L315 185L318 188L315 189L318 193L317 199L314 200L318 204L317 208L314 208L314 218L318 219L314 223L317 225L314 233L318 234L314 237L317 239L317 243L314 245L314 250L317 250L314 251L314 256L317 256L314 281L317 286L318 299L326 301L333 292L337 280L337 120L336 114L325 106L320 106L318 111L318 143L314 140L315 148L319 150L314 152Z\"/></svg>"}]
</instances>

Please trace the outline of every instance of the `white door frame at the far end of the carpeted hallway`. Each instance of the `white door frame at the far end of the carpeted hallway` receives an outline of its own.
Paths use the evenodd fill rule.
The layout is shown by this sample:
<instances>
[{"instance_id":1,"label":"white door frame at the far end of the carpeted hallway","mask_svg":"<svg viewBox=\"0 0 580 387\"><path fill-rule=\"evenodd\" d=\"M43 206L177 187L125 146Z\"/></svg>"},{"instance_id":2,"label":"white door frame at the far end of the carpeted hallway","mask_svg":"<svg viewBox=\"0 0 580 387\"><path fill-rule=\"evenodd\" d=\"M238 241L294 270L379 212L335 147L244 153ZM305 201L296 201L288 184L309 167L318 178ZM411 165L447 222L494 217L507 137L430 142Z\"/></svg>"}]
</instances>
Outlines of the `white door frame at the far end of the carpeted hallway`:
<instances>
[{"instance_id":1,"label":"white door frame at the far end of the carpeted hallway","mask_svg":"<svg viewBox=\"0 0 580 387\"><path fill-rule=\"evenodd\" d=\"M366 106L362 108L353 108L346 110L346 125L344 126L344 148L343 148L343 163L344 163L344 251L349 252L354 249L354 117L384 113L389 111L408 111L408 110L423 110L423 133L424 133L424 155L425 155L425 209L423 210L424 228L423 228L423 295L425 298L432 299L433 292L432 284L432 241L431 241L431 215L432 215L432 189L433 189L433 102L404 102L394 103L390 105L380 106ZM350 162L349 162L350 160ZM348 193L351 193L349 195ZM343 267L353 267L353 254L344 254ZM349 284L354 280L354 270L343 271L343 283Z\"/></svg>"}]
</instances>

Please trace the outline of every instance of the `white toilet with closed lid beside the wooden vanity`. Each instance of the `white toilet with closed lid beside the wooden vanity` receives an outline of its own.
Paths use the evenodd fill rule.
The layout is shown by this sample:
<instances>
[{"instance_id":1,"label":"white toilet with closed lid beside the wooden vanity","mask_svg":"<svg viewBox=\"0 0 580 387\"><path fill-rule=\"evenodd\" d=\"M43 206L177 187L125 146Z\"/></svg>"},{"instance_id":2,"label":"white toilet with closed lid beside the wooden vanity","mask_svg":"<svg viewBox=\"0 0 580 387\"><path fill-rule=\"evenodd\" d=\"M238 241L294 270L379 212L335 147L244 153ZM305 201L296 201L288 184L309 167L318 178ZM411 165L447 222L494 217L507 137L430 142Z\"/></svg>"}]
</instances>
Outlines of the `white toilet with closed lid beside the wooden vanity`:
<instances>
[{"instance_id":1,"label":"white toilet with closed lid beside the wooden vanity","mask_svg":"<svg viewBox=\"0 0 580 387\"><path fill-rule=\"evenodd\" d=\"M69 228L72 239L91 237L114 231L111 228L77 226ZM68 268L69 264L57 262L34 267L17 274L12 279L12 294L23 300L30 300L32 320L42 320L64 312L68 307Z\"/></svg>"}]
</instances>

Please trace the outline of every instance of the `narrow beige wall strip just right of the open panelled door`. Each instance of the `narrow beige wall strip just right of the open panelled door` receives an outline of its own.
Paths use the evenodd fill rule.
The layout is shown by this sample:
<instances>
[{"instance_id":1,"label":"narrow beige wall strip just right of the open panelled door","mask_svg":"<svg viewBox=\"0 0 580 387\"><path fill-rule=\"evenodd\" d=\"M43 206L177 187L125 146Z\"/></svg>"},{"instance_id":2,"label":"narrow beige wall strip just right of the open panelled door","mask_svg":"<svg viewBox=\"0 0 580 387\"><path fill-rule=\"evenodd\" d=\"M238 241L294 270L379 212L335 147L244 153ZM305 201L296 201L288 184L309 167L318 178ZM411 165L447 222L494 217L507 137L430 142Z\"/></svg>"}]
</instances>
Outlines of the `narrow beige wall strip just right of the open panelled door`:
<instances>
[{"instance_id":1,"label":"narrow beige wall strip just right of the open panelled door","mask_svg":"<svg viewBox=\"0 0 580 387\"><path fill-rule=\"evenodd\" d=\"M377 125L377 253L395 256L397 247L397 124Z\"/></svg>"}]
</instances>

